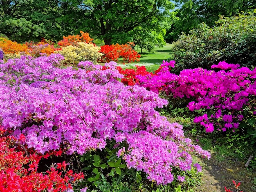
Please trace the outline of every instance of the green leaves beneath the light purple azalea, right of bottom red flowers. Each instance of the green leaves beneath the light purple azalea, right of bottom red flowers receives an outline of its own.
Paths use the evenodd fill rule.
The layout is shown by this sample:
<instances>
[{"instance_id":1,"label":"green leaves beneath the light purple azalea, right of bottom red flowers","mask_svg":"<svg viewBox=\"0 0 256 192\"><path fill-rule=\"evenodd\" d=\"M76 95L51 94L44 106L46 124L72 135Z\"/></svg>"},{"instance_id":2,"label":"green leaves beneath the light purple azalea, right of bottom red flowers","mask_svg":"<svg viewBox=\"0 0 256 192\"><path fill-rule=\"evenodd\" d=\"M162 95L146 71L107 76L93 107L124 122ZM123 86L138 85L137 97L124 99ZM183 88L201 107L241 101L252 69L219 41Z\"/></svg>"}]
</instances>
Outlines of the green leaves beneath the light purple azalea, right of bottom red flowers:
<instances>
[{"instance_id":1,"label":"green leaves beneath the light purple azalea, right of bottom red flowers","mask_svg":"<svg viewBox=\"0 0 256 192\"><path fill-rule=\"evenodd\" d=\"M114 144L114 141L109 141L108 147L102 151L90 151L76 156L78 164L74 166L85 173L85 179L78 186L88 186L90 191L102 192L173 192L178 185L181 185L182 191L190 191L201 183L202 173L191 167L186 172L173 170L175 178L177 175L185 177L184 182L174 180L168 185L156 185L148 181L144 172L128 169L124 160L116 156L117 148ZM126 147L125 143L120 145Z\"/></svg>"}]
</instances>

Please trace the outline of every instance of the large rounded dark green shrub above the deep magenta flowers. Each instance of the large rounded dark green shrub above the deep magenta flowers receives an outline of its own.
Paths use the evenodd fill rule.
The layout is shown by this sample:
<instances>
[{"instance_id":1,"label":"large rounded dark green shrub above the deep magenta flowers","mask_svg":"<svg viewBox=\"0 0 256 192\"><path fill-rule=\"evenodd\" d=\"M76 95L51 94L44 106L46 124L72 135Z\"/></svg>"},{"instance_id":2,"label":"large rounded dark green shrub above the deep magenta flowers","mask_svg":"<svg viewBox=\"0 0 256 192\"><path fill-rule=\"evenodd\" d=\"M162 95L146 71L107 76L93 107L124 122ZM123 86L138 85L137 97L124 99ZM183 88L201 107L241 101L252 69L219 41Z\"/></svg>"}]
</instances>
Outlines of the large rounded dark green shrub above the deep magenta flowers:
<instances>
[{"instance_id":1,"label":"large rounded dark green shrub above the deep magenta flowers","mask_svg":"<svg viewBox=\"0 0 256 192\"><path fill-rule=\"evenodd\" d=\"M216 27L202 23L198 29L182 34L171 50L176 70L203 67L225 60L252 67L256 63L256 9L238 17L220 17Z\"/></svg>"}]
</instances>

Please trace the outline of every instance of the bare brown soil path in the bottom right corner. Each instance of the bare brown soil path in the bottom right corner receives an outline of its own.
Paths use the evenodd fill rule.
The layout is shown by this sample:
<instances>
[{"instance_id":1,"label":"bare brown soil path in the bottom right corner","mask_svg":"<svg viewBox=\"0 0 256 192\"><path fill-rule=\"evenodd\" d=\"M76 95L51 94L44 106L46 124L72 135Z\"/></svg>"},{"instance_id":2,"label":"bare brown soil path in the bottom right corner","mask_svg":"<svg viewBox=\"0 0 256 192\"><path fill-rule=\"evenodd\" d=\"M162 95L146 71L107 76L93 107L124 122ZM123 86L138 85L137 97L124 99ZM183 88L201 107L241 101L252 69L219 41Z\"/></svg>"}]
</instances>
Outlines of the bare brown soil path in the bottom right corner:
<instances>
[{"instance_id":1,"label":"bare brown soil path in the bottom right corner","mask_svg":"<svg viewBox=\"0 0 256 192\"><path fill-rule=\"evenodd\" d=\"M256 192L256 171L247 170L243 162L227 160L218 162L214 156L204 160L202 185L195 192L225 192L225 186L233 192L233 180L241 182L239 189L243 192ZM238 190L238 192L240 192Z\"/></svg>"}]
</instances>

